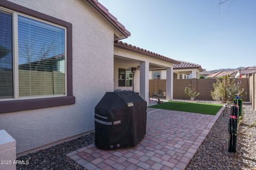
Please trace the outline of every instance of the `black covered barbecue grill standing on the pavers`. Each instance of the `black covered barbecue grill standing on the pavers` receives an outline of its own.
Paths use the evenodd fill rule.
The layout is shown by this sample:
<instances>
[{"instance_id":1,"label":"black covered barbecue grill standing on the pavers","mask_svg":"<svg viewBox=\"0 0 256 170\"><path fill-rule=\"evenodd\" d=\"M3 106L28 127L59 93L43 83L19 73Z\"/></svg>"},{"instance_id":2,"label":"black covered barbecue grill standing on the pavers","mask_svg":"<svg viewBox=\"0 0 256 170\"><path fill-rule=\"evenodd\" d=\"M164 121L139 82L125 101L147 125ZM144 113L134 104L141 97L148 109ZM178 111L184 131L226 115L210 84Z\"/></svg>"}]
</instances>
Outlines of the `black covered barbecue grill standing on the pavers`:
<instances>
[{"instance_id":1,"label":"black covered barbecue grill standing on the pavers","mask_svg":"<svg viewBox=\"0 0 256 170\"><path fill-rule=\"evenodd\" d=\"M95 107L95 145L134 147L146 134L147 102L133 91L107 92Z\"/></svg>"}]
</instances>

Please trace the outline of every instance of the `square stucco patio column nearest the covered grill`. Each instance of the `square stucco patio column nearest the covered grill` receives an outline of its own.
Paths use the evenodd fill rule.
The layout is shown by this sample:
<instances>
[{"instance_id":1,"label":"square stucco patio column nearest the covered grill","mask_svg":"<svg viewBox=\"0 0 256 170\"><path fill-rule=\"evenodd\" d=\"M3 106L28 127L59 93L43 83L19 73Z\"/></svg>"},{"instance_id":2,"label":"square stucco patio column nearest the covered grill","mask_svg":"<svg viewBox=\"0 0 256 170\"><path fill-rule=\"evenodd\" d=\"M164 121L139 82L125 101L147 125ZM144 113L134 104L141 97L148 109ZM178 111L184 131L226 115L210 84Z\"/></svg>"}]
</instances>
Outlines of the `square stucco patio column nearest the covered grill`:
<instances>
[{"instance_id":1,"label":"square stucco patio column nearest the covered grill","mask_svg":"<svg viewBox=\"0 0 256 170\"><path fill-rule=\"evenodd\" d=\"M140 62L140 97L149 102L149 62Z\"/></svg>"}]
</instances>

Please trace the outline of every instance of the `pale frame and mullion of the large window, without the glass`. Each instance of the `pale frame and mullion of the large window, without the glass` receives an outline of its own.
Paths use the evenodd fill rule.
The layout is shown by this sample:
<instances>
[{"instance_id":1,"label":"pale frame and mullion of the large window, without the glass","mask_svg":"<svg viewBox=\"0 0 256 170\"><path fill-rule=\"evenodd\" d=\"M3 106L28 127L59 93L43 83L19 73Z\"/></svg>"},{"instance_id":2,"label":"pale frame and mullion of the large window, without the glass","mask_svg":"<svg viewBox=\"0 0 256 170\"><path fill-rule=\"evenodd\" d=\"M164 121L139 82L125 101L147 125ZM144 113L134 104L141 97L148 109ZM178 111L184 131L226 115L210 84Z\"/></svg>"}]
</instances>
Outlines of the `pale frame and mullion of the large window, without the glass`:
<instances>
[{"instance_id":1,"label":"pale frame and mullion of the large window, without the glass","mask_svg":"<svg viewBox=\"0 0 256 170\"><path fill-rule=\"evenodd\" d=\"M54 24L48 21L44 21L33 16L22 14L13 10L9 10L4 7L0 7L0 12L7 12L12 14L12 42L13 42L13 98L0 99L0 101L6 100L23 100L23 99L38 99L38 98L52 98L52 97L64 97L67 96L67 28L61 25ZM47 95L47 96L29 96L29 97L19 97L19 54L18 54L18 15L25 16L26 18L33 19L39 22L53 25L58 28L64 29L65 32L65 95Z\"/></svg>"}]
</instances>

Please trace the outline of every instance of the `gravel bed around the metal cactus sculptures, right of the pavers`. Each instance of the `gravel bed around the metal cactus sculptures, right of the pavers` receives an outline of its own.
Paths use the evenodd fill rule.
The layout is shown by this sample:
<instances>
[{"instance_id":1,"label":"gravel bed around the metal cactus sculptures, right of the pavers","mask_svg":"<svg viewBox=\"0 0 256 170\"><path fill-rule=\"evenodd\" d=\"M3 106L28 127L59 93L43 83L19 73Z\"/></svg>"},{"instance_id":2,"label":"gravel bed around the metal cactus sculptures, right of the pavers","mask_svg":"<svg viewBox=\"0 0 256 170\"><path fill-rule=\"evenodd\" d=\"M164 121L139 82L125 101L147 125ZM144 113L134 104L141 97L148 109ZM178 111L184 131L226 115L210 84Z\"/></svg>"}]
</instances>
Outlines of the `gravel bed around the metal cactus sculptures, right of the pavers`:
<instances>
[{"instance_id":1,"label":"gravel bed around the metal cactus sculptures, right of the pavers","mask_svg":"<svg viewBox=\"0 0 256 170\"><path fill-rule=\"evenodd\" d=\"M239 125L237 152L229 153L228 120L230 113L221 114L197 150L187 169L256 169L256 112L244 103L243 121Z\"/></svg>"}]
</instances>

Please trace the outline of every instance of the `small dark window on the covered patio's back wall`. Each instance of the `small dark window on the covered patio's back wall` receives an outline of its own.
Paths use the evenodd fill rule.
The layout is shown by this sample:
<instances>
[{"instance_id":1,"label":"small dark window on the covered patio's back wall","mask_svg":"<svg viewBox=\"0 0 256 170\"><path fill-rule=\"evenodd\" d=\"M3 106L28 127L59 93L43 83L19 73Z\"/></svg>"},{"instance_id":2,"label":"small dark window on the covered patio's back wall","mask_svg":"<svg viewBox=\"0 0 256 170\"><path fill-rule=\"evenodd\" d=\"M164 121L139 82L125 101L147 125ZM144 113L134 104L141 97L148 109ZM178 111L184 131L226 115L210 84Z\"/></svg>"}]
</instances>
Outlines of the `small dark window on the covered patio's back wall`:
<instances>
[{"instance_id":1,"label":"small dark window on the covered patio's back wall","mask_svg":"<svg viewBox=\"0 0 256 170\"><path fill-rule=\"evenodd\" d=\"M132 87L132 70L118 69L118 86Z\"/></svg>"}]
</instances>

